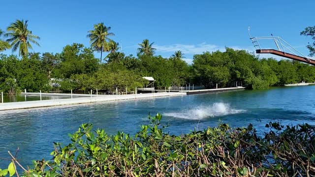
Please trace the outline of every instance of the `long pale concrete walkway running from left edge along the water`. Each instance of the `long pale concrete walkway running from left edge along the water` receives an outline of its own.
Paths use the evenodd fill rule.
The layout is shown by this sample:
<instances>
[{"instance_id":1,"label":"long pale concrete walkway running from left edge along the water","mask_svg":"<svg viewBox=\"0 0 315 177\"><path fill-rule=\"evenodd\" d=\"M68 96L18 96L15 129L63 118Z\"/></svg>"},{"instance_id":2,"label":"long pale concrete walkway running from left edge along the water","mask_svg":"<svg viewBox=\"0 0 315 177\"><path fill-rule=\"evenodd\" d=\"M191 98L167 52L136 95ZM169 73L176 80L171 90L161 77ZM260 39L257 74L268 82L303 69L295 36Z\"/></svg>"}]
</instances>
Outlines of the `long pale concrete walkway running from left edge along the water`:
<instances>
[{"instance_id":1,"label":"long pale concrete walkway running from left edge along the water","mask_svg":"<svg viewBox=\"0 0 315 177\"><path fill-rule=\"evenodd\" d=\"M55 95L55 94L60 94L60 93L50 93L49 95L51 94ZM42 93L42 95L44 94ZM49 107L49 106L61 106L61 105L71 105L71 104L82 104L82 103L93 103L93 102L104 102L104 101L115 101L115 100L126 100L126 99L143 99L143 98L162 97L162 96L179 96L179 95L186 95L186 93L160 92L160 93L128 94L128 95L117 95L117 96L116 95L97 95L97 97L95 95L92 98L91 98L91 95L89 95L90 97L85 96L85 97L80 97L80 98L10 102L10 103L0 103L0 111ZM58 95L58 96L64 96L64 95ZM67 94L66 96L69 96L69 94Z\"/></svg>"}]
</instances>

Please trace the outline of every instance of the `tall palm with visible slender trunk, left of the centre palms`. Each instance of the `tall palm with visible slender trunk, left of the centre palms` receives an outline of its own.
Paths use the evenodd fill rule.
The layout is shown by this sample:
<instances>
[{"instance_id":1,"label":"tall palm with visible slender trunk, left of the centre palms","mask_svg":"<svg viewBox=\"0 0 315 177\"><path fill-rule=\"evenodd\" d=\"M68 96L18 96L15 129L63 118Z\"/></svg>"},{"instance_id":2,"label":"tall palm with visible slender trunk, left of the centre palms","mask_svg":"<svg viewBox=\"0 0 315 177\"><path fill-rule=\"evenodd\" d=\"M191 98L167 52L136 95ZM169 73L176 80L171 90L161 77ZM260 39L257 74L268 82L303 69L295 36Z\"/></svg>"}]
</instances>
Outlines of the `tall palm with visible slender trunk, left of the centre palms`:
<instances>
[{"instance_id":1,"label":"tall palm with visible slender trunk, left of the centre palms","mask_svg":"<svg viewBox=\"0 0 315 177\"><path fill-rule=\"evenodd\" d=\"M111 28L106 27L104 23L99 23L94 25L93 30L89 30L89 34L87 37L90 38L91 47L94 48L95 51L100 52L100 62L102 62L102 53L109 52L109 41L110 39L107 36L115 35L112 32L109 32Z\"/></svg>"}]
</instances>

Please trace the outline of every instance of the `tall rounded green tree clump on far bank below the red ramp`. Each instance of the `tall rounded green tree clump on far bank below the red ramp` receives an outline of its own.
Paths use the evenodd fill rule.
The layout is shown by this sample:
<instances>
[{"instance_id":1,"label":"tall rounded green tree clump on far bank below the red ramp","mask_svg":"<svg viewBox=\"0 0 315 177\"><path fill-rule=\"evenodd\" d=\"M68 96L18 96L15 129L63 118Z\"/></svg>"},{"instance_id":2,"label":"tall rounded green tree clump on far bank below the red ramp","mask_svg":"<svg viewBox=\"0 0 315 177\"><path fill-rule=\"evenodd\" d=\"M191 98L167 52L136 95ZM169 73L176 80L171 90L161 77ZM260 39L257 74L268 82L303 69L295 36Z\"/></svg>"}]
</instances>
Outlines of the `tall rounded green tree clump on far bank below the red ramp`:
<instances>
[{"instance_id":1,"label":"tall rounded green tree clump on far bank below the red ramp","mask_svg":"<svg viewBox=\"0 0 315 177\"><path fill-rule=\"evenodd\" d=\"M314 82L315 68L293 60L258 59L244 51L227 48L225 52L195 55L192 64L194 82L207 88L235 86L267 89L298 82Z\"/></svg>"}]
</instances>

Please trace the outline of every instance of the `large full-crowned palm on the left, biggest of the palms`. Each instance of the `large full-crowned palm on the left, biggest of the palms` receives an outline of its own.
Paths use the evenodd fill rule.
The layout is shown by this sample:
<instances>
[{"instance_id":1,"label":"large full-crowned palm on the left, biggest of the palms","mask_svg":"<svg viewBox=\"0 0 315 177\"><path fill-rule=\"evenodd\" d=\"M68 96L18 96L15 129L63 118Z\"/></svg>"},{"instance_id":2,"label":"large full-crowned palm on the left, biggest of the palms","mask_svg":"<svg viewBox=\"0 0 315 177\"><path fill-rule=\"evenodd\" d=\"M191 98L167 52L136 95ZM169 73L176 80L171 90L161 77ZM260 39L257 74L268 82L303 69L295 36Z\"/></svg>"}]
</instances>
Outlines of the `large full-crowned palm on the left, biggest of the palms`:
<instances>
[{"instance_id":1,"label":"large full-crowned palm on the left, biggest of the palms","mask_svg":"<svg viewBox=\"0 0 315 177\"><path fill-rule=\"evenodd\" d=\"M33 35L28 29L28 20L16 20L6 30L8 32L4 35L9 37L6 41L11 43L12 52L19 48L19 56L26 56L29 53L29 49L32 49L31 42L39 46L36 39L40 37Z\"/></svg>"}]
</instances>

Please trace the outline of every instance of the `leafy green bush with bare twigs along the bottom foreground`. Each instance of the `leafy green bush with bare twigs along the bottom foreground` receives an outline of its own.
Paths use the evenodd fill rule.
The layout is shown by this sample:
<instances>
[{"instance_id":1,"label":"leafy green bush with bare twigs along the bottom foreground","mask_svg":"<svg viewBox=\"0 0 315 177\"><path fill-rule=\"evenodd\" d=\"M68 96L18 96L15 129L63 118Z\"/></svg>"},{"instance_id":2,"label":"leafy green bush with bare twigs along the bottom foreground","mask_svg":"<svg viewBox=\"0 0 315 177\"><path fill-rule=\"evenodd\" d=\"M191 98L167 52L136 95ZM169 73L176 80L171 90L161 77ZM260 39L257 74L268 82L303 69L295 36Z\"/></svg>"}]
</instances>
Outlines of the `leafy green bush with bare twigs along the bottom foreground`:
<instances>
[{"instance_id":1,"label":"leafy green bush with bare twigs along the bottom foreground","mask_svg":"<svg viewBox=\"0 0 315 177\"><path fill-rule=\"evenodd\" d=\"M27 177L315 176L311 125L284 128L269 123L268 132L258 135L251 124L247 128L220 124L175 136L165 132L167 125L160 124L161 118L159 114L150 118L151 123L142 125L135 137L120 132L108 136L82 124L71 135L71 144L55 143L52 161L35 161L28 169L12 156L0 176L16 174L16 168Z\"/></svg>"}]
</instances>

